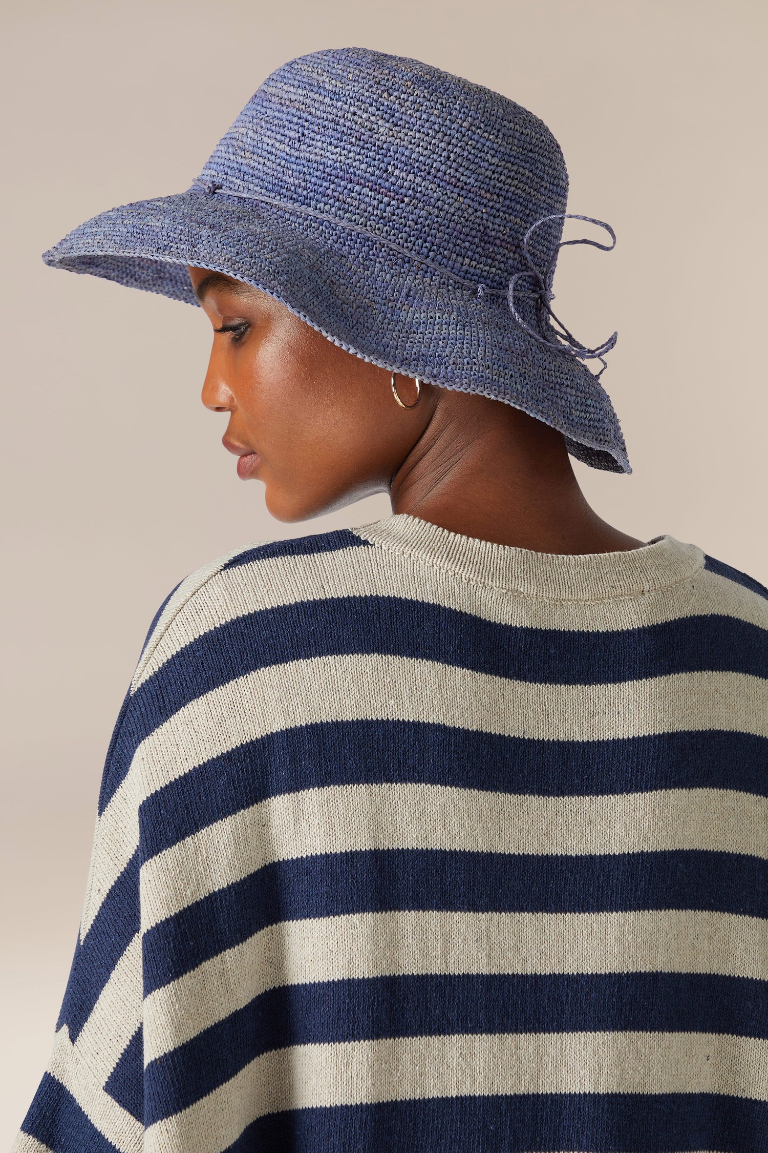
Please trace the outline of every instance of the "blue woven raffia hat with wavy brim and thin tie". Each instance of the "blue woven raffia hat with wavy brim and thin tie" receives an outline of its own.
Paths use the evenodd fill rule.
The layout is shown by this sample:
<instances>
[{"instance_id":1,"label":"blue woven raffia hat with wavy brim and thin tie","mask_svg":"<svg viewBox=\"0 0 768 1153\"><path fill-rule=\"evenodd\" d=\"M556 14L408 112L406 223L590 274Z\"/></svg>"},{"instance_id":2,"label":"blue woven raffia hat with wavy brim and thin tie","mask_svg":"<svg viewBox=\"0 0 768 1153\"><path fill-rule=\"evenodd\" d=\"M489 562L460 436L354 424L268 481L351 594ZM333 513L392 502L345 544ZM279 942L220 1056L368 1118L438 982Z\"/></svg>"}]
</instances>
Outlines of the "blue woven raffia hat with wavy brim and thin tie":
<instances>
[{"instance_id":1,"label":"blue woven raffia hat with wavy brim and thin tie","mask_svg":"<svg viewBox=\"0 0 768 1153\"><path fill-rule=\"evenodd\" d=\"M505 401L630 472L586 364L616 334L587 349L552 323L567 198L556 140L518 104L337 48L268 76L188 191L102 212L44 259L190 304L185 265L228 273L366 361Z\"/></svg>"}]
</instances>

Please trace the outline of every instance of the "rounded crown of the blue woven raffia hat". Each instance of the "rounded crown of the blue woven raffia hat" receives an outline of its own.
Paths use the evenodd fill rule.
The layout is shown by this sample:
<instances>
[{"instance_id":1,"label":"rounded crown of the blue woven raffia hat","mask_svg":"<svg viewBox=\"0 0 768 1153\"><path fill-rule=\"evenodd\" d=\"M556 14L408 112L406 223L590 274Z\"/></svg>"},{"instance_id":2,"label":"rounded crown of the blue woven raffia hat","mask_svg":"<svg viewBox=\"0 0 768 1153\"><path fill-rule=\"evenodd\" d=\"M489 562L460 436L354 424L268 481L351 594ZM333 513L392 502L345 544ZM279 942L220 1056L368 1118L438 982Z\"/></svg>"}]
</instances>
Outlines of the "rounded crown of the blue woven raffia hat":
<instances>
[{"instance_id":1,"label":"rounded crown of the blue woven raffia hat","mask_svg":"<svg viewBox=\"0 0 768 1153\"><path fill-rule=\"evenodd\" d=\"M560 145L538 116L368 48L312 52L273 71L200 180L327 213L497 288L527 267L527 228L568 199ZM562 220L533 234L538 266L561 234Z\"/></svg>"}]
</instances>

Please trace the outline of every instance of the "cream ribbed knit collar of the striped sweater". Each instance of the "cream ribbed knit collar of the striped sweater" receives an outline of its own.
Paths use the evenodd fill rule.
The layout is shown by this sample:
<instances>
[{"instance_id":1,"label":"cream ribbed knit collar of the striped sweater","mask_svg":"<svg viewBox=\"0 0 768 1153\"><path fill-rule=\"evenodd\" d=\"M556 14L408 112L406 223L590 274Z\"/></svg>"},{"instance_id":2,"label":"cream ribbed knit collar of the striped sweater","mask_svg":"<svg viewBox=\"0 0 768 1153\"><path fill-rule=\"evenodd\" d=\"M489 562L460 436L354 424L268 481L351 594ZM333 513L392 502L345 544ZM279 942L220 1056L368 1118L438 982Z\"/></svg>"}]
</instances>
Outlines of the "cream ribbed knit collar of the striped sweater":
<instances>
[{"instance_id":1,"label":"cream ribbed knit collar of the striped sweater","mask_svg":"<svg viewBox=\"0 0 768 1153\"><path fill-rule=\"evenodd\" d=\"M450 533L410 513L395 513L353 532L373 544L436 565L473 583L541 600L639 596L689 580L705 560L701 549L674 536L655 537L626 552L533 552Z\"/></svg>"}]
</instances>

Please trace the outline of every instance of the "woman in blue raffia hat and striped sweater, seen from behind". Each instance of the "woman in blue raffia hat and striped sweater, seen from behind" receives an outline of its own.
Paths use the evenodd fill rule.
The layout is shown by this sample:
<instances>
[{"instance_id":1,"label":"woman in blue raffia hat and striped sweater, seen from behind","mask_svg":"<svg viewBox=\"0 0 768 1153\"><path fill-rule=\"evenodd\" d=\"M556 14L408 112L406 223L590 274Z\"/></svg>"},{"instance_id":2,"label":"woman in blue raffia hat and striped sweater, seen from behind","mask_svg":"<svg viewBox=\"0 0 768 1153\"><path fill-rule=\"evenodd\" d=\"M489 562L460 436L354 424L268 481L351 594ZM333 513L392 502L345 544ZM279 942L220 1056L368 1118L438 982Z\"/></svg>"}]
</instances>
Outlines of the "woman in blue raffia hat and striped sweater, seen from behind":
<instances>
[{"instance_id":1,"label":"woman in blue raffia hat and striped sweater, seen from behind","mask_svg":"<svg viewBox=\"0 0 768 1153\"><path fill-rule=\"evenodd\" d=\"M768 594L579 491L629 462L567 186L497 93L317 52L46 254L199 301L276 518L394 515L159 610L17 1151L766 1148Z\"/></svg>"}]
</instances>

